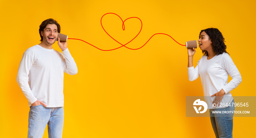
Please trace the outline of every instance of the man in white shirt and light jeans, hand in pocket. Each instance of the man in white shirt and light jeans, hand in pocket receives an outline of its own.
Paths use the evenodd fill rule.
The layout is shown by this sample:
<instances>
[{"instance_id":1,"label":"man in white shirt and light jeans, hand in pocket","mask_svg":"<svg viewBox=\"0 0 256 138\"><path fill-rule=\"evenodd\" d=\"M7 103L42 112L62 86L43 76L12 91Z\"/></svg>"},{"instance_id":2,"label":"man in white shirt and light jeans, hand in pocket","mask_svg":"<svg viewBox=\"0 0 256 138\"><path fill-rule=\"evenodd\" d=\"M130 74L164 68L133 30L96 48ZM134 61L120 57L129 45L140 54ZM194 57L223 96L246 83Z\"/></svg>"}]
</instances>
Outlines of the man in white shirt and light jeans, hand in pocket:
<instances>
[{"instance_id":1,"label":"man in white shirt and light jeans, hand in pocket","mask_svg":"<svg viewBox=\"0 0 256 138\"><path fill-rule=\"evenodd\" d=\"M26 96L29 111L28 137L43 137L48 124L49 138L61 138L64 122L64 72L75 75L76 63L67 48L67 42L57 38L60 25L47 19L39 26L41 43L28 48L20 61L17 82ZM58 41L62 50L53 50Z\"/></svg>"}]
</instances>

